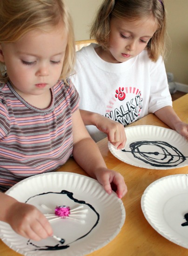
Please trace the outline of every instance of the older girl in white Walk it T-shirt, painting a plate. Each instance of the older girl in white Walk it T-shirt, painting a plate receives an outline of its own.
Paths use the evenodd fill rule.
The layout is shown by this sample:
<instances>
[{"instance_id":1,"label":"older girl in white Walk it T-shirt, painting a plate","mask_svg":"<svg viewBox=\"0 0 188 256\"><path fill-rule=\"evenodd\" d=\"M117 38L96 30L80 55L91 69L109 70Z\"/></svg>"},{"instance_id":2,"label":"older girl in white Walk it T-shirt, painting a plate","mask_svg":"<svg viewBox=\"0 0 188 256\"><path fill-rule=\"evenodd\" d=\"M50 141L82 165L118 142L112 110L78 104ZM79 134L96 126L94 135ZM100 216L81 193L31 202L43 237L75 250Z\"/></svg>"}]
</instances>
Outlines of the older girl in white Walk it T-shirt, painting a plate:
<instances>
[{"instance_id":1,"label":"older girl in white Walk it T-shirt, painting a plate","mask_svg":"<svg viewBox=\"0 0 188 256\"><path fill-rule=\"evenodd\" d=\"M114 146L123 148L124 127L148 113L188 139L188 124L172 108L163 62L163 0L104 0L91 38L98 44L77 52L74 85L81 96L81 116L94 140L107 134Z\"/></svg>"}]
</instances>

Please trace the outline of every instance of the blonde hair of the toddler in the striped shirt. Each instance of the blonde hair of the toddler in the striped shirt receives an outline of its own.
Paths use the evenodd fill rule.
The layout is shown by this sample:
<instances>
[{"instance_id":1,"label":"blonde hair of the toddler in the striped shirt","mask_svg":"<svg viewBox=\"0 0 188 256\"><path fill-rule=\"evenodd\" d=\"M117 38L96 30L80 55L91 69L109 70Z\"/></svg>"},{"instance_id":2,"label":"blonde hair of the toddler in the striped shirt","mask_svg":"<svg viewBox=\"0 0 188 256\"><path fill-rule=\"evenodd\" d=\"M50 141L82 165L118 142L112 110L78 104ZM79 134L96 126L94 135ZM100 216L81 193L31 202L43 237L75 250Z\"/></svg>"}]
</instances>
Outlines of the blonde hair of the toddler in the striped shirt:
<instances>
[{"instance_id":1,"label":"blonde hair of the toddler in the striped shirt","mask_svg":"<svg viewBox=\"0 0 188 256\"><path fill-rule=\"evenodd\" d=\"M65 25L68 41L60 79L73 73L75 45L73 23L64 0L0 0L0 43L18 41L33 29ZM0 62L0 81L7 82L5 64Z\"/></svg>"}]
</instances>

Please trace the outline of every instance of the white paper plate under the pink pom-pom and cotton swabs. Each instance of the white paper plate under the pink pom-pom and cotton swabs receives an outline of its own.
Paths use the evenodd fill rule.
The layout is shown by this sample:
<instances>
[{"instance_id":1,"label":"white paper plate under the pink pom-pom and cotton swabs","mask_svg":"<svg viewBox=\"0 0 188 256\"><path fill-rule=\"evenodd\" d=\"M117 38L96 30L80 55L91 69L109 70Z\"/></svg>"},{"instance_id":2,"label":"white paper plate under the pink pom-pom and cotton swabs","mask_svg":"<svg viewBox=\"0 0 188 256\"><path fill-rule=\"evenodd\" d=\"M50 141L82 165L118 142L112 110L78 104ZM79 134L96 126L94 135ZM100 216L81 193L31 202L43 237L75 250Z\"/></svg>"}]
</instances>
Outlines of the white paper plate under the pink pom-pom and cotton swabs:
<instances>
[{"instance_id":1,"label":"white paper plate under the pink pom-pom and cotton swabs","mask_svg":"<svg viewBox=\"0 0 188 256\"><path fill-rule=\"evenodd\" d=\"M114 192L108 195L99 182L84 175L67 172L35 175L17 183L6 194L20 202L35 205L43 213L49 211L41 204L51 209L59 205L70 208L83 205L84 209L88 209L85 223L67 218L51 222L54 235L65 239L63 245L53 237L40 242L28 241L16 234L7 223L0 222L0 238L22 255L87 255L112 241L125 222L121 199ZM68 248L65 248L67 245Z\"/></svg>"}]
</instances>

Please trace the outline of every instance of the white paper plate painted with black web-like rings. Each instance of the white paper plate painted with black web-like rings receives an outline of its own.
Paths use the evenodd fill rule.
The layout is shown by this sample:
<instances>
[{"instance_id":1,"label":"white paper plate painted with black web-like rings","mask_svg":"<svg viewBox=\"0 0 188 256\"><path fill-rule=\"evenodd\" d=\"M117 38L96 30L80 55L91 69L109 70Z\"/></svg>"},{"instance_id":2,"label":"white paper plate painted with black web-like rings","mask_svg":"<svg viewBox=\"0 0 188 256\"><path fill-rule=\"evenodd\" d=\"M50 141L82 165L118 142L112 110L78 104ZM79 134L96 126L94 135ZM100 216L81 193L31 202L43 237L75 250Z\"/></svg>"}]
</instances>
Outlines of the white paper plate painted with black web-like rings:
<instances>
[{"instance_id":1,"label":"white paper plate painted with black web-like rings","mask_svg":"<svg viewBox=\"0 0 188 256\"><path fill-rule=\"evenodd\" d=\"M188 165L188 141L176 131L153 125L125 128L123 150L108 142L110 152L122 162L148 168L172 169Z\"/></svg>"}]
</instances>

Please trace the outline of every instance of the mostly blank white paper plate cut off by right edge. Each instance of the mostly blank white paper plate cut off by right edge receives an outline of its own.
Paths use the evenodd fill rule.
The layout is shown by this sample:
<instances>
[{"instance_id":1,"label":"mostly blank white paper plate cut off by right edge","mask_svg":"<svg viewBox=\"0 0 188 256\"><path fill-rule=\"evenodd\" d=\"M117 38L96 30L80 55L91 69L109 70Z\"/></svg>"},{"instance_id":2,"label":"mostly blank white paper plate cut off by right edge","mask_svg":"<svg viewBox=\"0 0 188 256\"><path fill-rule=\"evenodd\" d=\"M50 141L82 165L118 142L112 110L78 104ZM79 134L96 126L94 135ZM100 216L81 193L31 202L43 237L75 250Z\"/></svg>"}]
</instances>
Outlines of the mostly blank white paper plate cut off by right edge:
<instances>
[{"instance_id":1,"label":"mostly blank white paper plate cut off by right edge","mask_svg":"<svg viewBox=\"0 0 188 256\"><path fill-rule=\"evenodd\" d=\"M141 197L141 209L161 236L188 249L188 175L169 175L151 183Z\"/></svg>"}]
</instances>

